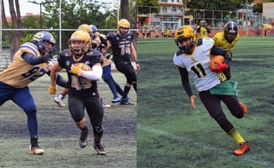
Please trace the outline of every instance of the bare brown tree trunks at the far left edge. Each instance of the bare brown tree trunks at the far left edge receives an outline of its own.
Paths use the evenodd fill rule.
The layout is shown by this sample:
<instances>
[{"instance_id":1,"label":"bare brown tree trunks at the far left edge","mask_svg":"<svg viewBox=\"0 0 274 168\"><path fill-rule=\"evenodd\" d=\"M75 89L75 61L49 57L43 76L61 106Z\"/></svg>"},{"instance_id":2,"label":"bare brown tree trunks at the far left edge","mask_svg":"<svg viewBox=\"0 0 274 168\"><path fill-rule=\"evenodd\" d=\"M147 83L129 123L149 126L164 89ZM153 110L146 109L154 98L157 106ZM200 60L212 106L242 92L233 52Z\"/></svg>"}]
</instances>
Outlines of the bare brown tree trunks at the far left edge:
<instances>
[{"instance_id":1,"label":"bare brown tree trunks at the far left edge","mask_svg":"<svg viewBox=\"0 0 274 168\"><path fill-rule=\"evenodd\" d=\"M1 9L2 18L1 19L3 20L3 27L6 29L8 29L8 28L22 29L19 1L15 0L15 4L14 4L13 0L8 0L9 6L10 6L9 10L11 13L11 21L12 21L11 27L8 25L8 22L6 21L4 1L3 0L1 0L1 1L2 1L2 9ZM20 45L20 38L22 36L22 31L6 31L6 34L8 35L8 38L11 41L11 43L10 43L10 46L11 46L10 57L11 57L11 60L13 60L13 55L18 50L19 45Z\"/></svg>"}]
</instances>

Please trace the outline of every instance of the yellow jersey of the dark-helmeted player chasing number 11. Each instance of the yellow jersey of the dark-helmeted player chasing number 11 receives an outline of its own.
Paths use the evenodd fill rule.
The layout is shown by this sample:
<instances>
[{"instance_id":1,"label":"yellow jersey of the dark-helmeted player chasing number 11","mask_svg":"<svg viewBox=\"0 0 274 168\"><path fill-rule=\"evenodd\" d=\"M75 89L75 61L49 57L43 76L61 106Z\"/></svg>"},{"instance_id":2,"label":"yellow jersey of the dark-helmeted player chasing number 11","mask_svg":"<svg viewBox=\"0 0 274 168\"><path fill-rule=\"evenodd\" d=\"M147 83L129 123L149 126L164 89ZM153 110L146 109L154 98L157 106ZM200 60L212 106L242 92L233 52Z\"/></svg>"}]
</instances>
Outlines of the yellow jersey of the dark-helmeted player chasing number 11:
<instances>
[{"instance_id":1,"label":"yellow jersey of the dark-helmeted player chasing number 11","mask_svg":"<svg viewBox=\"0 0 274 168\"><path fill-rule=\"evenodd\" d=\"M240 39L240 36L239 36L239 34L237 34L236 38L231 43L229 43L225 38L224 31L218 32L214 36L215 45L217 45L225 50L233 50L234 45L237 43L237 41L239 39Z\"/></svg>"}]
</instances>

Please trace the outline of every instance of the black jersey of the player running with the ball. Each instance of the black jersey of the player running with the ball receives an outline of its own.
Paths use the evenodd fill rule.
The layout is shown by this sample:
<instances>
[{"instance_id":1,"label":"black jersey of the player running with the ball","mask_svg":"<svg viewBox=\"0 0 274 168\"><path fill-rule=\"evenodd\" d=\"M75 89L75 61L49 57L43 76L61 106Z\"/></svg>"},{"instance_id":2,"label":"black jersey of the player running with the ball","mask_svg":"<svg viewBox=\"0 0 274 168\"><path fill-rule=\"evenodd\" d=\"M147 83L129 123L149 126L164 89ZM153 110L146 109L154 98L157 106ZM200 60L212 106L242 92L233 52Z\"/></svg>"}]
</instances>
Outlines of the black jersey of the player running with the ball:
<instances>
[{"instance_id":1,"label":"black jersey of the player running with the ball","mask_svg":"<svg viewBox=\"0 0 274 168\"><path fill-rule=\"evenodd\" d=\"M102 64L101 53L98 50L91 50L87 52L82 59L78 62L74 61L72 53L69 49L60 52L58 57L59 66L67 70L67 77L69 80L69 92L72 94L77 94L79 96L91 96L96 90L97 92L97 82L95 80L89 80L81 76L77 76L71 71L72 64L84 63L92 66L96 63Z\"/></svg>"}]
</instances>

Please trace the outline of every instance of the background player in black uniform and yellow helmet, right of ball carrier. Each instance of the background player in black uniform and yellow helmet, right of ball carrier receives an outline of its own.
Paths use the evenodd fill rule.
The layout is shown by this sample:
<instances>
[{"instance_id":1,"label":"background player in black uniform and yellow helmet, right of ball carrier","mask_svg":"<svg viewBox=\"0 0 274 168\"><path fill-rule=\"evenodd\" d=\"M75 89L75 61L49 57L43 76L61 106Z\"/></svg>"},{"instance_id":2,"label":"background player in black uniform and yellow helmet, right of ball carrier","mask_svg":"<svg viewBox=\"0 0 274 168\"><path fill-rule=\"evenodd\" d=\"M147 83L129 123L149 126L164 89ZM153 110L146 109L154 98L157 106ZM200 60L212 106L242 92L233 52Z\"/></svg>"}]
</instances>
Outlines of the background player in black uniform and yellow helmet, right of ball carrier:
<instances>
[{"instance_id":1,"label":"background player in black uniform and yellow helmet, right of ball carrier","mask_svg":"<svg viewBox=\"0 0 274 168\"><path fill-rule=\"evenodd\" d=\"M129 105L129 90L133 85L137 92L137 77L136 72L131 64L136 62L136 69L139 71L141 66L137 62L136 50L133 46L133 33L129 31L130 24L126 19L119 20L117 32L107 34L107 48L112 48L113 59L118 71L126 76L126 85L124 86L124 94L120 104Z\"/></svg>"}]
</instances>

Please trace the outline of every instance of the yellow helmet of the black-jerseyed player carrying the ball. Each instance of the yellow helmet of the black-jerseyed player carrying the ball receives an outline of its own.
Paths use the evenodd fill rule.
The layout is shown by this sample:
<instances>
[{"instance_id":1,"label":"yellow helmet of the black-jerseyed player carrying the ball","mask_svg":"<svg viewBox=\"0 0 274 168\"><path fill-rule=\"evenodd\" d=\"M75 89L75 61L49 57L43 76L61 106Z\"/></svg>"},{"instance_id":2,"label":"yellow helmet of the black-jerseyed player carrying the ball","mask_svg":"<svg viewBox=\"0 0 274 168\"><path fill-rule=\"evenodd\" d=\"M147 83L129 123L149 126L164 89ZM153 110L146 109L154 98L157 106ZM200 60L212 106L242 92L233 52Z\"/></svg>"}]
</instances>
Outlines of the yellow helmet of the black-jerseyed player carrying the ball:
<instances>
[{"instance_id":1,"label":"yellow helmet of the black-jerseyed player carrying the ball","mask_svg":"<svg viewBox=\"0 0 274 168\"><path fill-rule=\"evenodd\" d=\"M77 44L74 44L75 41L82 41L83 45L79 46ZM69 45L70 50L75 55L83 55L84 53L88 52L89 48L91 47L91 36L89 36L89 33L84 30L74 31L72 36L70 36Z\"/></svg>"}]
</instances>

